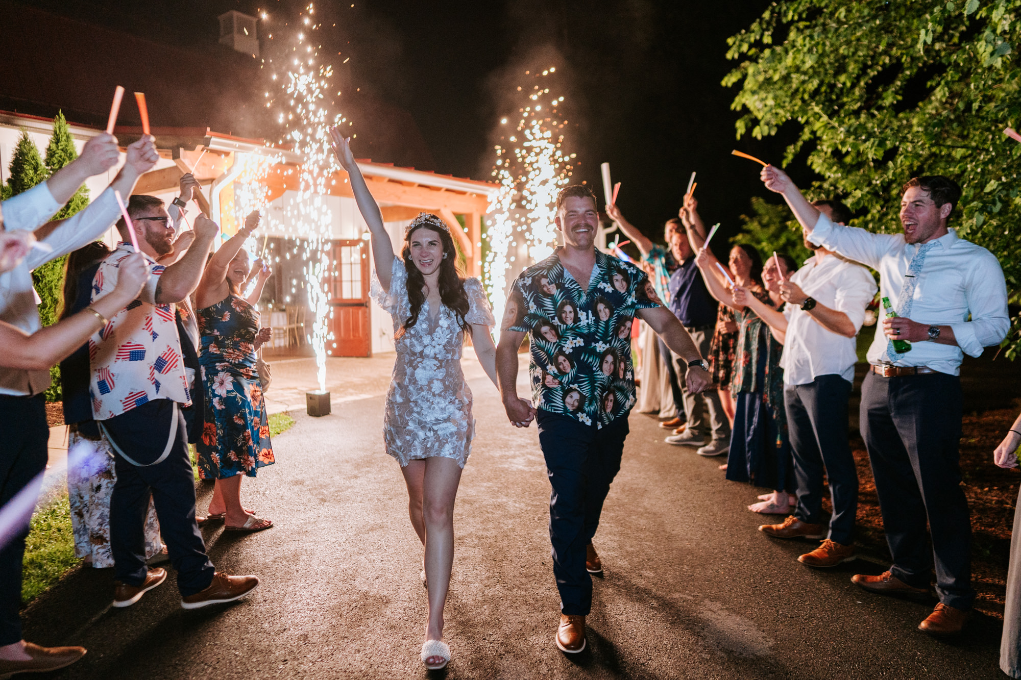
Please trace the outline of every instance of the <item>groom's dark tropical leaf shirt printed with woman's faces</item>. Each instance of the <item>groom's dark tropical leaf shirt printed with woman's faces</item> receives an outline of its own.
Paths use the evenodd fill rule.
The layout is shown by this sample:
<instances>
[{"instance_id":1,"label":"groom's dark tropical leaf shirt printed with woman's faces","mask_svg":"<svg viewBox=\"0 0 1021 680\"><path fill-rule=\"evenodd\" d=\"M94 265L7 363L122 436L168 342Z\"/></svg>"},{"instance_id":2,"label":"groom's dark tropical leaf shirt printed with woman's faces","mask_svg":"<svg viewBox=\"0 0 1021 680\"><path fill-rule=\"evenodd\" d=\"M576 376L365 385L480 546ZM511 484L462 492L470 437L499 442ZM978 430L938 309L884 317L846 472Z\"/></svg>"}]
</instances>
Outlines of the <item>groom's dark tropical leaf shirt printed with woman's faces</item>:
<instances>
[{"instance_id":1,"label":"groom's dark tropical leaf shirt printed with woman's faces","mask_svg":"<svg viewBox=\"0 0 1021 680\"><path fill-rule=\"evenodd\" d=\"M585 293L561 264L560 248L518 277L503 328L531 334L532 402L597 427L634 405L631 325L661 306L638 268L596 250Z\"/></svg>"}]
</instances>

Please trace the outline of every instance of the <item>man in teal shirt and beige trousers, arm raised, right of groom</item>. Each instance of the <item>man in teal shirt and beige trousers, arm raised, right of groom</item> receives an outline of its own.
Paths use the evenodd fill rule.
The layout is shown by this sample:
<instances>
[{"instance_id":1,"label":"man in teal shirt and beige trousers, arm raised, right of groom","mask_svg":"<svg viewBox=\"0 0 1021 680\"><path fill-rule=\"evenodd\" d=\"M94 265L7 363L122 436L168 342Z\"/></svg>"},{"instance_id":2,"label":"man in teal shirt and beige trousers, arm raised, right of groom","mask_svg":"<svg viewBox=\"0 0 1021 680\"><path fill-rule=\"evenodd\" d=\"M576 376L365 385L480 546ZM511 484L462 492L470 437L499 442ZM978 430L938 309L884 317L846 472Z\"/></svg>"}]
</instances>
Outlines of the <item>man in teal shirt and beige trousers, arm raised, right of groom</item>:
<instances>
[{"instance_id":1,"label":"man in teal shirt and beige trousers, arm raised, right of groom","mask_svg":"<svg viewBox=\"0 0 1021 680\"><path fill-rule=\"evenodd\" d=\"M637 227L628 222L620 208L614 203L606 205L606 215L617 223L624 235L631 239L632 243L638 247L642 259L651 268L649 281L655 289L655 294L664 302L670 302L670 277L677 271L681 260L674 256L673 243L677 235L681 232L681 222L679 217L671 217L664 225L663 238L667 242L667 247L642 234ZM681 254L681 253L678 253ZM663 339L655 334L646 335L646 338L653 340L647 346L643 346L642 360L658 361L660 371L658 376L662 376L660 385L653 386L645 384L642 389L655 389L662 395L660 399L660 416L670 416L661 423L661 427L674 430L674 434L684 431L687 416L684 412L684 393L681 391L681 383L677 378L677 371L670 355L670 348L663 342ZM665 383L665 384L664 384ZM670 400L667 402L667 390L670 392ZM666 402L666 403L665 403Z\"/></svg>"}]
</instances>

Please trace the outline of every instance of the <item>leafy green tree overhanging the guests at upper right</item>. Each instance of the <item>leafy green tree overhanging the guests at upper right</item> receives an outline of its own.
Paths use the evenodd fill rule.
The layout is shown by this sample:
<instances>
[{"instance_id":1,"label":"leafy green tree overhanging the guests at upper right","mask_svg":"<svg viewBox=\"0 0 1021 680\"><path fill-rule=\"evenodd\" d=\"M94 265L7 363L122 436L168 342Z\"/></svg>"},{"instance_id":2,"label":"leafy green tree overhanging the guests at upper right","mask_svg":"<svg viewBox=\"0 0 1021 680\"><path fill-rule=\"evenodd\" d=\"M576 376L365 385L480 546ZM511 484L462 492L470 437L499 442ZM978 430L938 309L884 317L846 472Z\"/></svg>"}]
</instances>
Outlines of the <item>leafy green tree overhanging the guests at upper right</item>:
<instances>
[{"instance_id":1,"label":"leafy green tree overhanging the guests at upper right","mask_svg":"<svg viewBox=\"0 0 1021 680\"><path fill-rule=\"evenodd\" d=\"M1021 282L1021 0L888 2L786 0L729 39L740 64L737 135L796 126L785 163L807 151L858 226L897 231L901 187L946 175L964 190L952 217L962 237L994 253L1008 288ZM1006 344L1021 347L1018 320Z\"/></svg>"}]
</instances>

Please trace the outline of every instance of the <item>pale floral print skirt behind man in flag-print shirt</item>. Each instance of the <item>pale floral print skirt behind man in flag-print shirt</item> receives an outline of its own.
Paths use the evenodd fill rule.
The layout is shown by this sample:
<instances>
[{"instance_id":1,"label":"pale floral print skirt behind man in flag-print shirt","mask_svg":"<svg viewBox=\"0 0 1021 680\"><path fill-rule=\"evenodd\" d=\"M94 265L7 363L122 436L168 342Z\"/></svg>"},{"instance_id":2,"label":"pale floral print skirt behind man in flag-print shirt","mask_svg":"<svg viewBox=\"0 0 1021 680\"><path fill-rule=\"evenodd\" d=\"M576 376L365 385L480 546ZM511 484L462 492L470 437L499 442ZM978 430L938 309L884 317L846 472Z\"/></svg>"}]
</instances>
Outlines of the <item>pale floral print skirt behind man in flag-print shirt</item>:
<instances>
[{"instance_id":1,"label":"pale floral print skirt behind man in flag-print shirt","mask_svg":"<svg viewBox=\"0 0 1021 680\"><path fill-rule=\"evenodd\" d=\"M93 448L80 465L67 468L67 496L70 501L70 526L75 533L75 556L92 557L92 566L113 566L110 553L110 496L117 481L113 472L113 449L106 437L87 439L78 432L67 437L67 450L86 443ZM163 549L159 540L159 522L152 498L145 514L145 557Z\"/></svg>"}]
</instances>

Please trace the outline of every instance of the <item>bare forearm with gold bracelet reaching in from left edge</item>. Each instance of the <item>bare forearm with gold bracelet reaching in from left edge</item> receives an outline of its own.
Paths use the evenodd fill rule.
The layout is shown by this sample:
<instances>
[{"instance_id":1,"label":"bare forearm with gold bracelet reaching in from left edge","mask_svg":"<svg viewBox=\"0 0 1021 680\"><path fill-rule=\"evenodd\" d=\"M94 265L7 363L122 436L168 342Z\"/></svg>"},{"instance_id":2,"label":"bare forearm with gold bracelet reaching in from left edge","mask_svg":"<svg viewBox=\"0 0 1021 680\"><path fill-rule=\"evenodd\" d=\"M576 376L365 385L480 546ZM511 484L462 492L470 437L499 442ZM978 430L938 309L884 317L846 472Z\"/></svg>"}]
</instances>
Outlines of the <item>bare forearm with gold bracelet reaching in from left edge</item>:
<instances>
[{"instance_id":1,"label":"bare forearm with gold bracelet reaching in from left edge","mask_svg":"<svg viewBox=\"0 0 1021 680\"><path fill-rule=\"evenodd\" d=\"M120 262L114 289L78 313L32 335L0 322L0 344L4 348L0 366L38 370L55 366L138 297L148 278L148 264L141 254L134 253Z\"/></svg>"}]
</instances>

